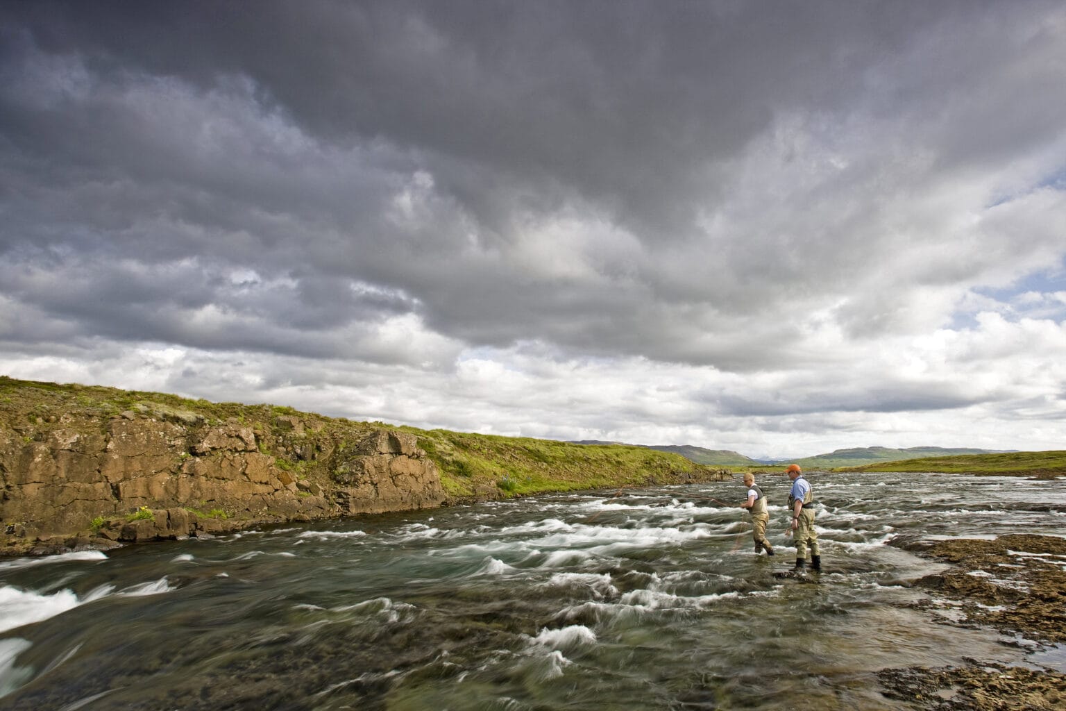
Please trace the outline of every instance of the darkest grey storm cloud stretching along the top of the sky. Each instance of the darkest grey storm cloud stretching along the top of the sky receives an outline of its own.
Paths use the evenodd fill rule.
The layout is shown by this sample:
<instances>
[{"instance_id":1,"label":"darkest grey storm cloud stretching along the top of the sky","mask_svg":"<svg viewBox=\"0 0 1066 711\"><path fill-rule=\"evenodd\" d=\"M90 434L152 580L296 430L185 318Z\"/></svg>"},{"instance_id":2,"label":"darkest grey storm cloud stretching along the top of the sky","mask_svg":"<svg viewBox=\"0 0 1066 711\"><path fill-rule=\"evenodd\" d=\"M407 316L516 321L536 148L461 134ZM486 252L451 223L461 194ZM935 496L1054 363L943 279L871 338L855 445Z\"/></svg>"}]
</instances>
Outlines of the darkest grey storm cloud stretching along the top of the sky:
<instances>
[{"instance_id":1,"label":"darkest grey storm cloud stretching along the top of the sky","mask_svg":"<svg viewBox=\"0 0 1066 711\"><path fill-rule=\"evenodd\" d=\"M535 201L551 200L558 184L656 240L692 230L694 205L718 197L716 171L776 114L831 115L916 29L976 12L616 2L18 10L33 42L84 56L103 82L133 70L207 91L247 77L264 104L324 141L383 140L430 165L458 161L467 172L441 171L440 188L489 232L507 231L513 208L491 198L521 199L494 190L502 179Z\"/></svg>"}]
</instances>

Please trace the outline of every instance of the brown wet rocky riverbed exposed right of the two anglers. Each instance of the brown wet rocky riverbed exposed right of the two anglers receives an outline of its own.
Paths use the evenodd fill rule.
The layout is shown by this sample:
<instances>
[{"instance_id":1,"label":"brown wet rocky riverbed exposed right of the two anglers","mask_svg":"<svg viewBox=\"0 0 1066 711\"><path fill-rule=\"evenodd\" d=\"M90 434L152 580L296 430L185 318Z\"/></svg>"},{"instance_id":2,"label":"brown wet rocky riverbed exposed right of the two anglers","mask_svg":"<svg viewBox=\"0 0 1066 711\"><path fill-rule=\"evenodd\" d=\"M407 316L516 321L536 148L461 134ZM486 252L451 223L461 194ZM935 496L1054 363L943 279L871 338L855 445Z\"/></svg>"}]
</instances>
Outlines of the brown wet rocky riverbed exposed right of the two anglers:
<instances>
[{"instance_id":1,"label":"brown wet rocky riverbed exposed right of the two anglers","mask_svg":"<svg viewBox=\"0 0 1066 711\"><path fill-rule=\"evenodd\" d=\"M1018 534L994 540L902 540L899 545L952 566L917 582L933 596L920 607L944 625L992 627L1035 650L1063 649L1066 539ZM1066 674L1041 664L1004 666L968 660L965 666L891 668L878 676L887 696L920 709L1066 708Z\"/></svg>"}]
</instances>

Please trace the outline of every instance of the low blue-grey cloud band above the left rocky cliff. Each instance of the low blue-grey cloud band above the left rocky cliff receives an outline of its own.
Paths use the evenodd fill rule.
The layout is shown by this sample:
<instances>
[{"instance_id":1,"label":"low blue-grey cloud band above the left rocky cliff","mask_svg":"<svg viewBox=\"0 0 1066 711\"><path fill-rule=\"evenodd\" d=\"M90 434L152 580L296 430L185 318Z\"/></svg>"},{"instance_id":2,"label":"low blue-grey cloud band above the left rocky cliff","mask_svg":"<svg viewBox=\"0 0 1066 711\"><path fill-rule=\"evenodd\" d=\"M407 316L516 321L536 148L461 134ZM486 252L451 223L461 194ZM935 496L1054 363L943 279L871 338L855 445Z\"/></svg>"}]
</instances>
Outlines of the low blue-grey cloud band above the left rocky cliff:
<instances>
[{"instance_id":1,"label":"low blue-grey cloud band above the left rocky cliff","mask_svg":"<svg viewBox=\"0 0 1066 711\"><path fill-rule=\"evenodd\" d=\"M34 311L10 325L9 339L31 344L103 337L206 350L405 359L399 352L375 353L351 327L366 330L406 313L410 304L346 280L263 284L254 273L220 273L199 260L165 268L129 260L50 261L47 270L19 262L0 266L7 293ZM91 334L85 324L92 324Z\"/></svg>"}]
</instances>

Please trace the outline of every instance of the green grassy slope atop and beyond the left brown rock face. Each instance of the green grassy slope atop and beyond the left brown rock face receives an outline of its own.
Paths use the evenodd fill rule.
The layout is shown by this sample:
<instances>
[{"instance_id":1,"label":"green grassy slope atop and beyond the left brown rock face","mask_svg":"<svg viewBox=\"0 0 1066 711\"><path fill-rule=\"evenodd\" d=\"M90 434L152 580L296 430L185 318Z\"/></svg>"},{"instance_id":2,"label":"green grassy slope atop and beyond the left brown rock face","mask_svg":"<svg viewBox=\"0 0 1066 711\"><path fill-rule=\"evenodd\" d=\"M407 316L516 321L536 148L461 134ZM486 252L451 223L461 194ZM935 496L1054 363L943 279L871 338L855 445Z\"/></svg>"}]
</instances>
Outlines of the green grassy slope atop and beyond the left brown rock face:
<instances>
[{"instance_id":1,"label":"green grassy slope atop and beyond the left brown rock face","mask_svg":"<svg viewBox=\"0 0 1066 711\"><path fill-rule=\"evenodd\" d=\"M124 411L191 427L237 420L255 431L260 451L274 456L278 467L323 485L328 484L332 472L329 453L349 449L374 429L400 430L418 438L419 447L439 468L445 490L456 502L720 476L717 467L643 447L425 431L329 418L277 405L213 403L160 392L0 376L0 427L12 432L16 441L41 440L58 427L102 434L108 420ZM303 422L301 433L291 430L291 418ZM308 452L314 454L308 456Z\"/></svg>"}]
</instances>

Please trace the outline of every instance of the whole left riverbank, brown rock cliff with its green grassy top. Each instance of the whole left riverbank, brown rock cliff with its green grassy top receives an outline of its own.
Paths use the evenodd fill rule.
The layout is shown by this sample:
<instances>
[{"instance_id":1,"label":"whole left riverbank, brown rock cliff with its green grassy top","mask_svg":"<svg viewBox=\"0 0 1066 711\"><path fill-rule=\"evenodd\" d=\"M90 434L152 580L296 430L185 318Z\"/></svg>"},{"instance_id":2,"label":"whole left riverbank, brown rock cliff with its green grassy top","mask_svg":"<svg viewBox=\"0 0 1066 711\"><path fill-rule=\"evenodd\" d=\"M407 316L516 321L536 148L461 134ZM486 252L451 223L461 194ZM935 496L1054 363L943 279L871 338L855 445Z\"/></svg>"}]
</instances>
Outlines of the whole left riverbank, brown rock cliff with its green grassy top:
<instances>
[{"instance_id":1,"label":"whole left riverbank, brown rock cliff with its green grassy top","mask_svg":"<svg viewBox=\"0 0 1066 711\"><path fill-rule=\"evenodd\" d=\"M0 555L721 478L729 473L640 447L0 376Z\"/></svg>"}]
</instances>

